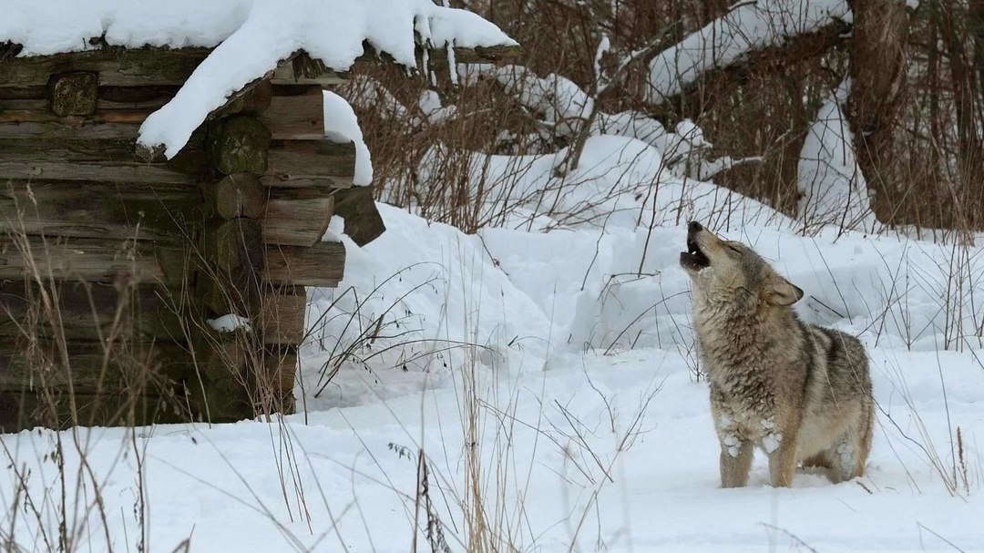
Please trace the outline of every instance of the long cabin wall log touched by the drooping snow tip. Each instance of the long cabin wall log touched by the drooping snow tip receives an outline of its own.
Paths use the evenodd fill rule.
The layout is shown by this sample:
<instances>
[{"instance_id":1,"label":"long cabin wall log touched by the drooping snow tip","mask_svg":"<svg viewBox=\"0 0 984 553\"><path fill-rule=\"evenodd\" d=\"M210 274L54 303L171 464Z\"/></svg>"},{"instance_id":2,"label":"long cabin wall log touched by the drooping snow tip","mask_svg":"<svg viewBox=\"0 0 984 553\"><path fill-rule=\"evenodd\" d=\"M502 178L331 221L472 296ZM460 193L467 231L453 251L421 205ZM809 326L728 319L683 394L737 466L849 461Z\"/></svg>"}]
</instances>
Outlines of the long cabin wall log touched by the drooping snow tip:
<instances>
[{"instance_id":1,"label":"long cabin wall log touched by the drooping snow tip","mask_svg":"<svg viewBox=\"0 0 984 553\"><path fill-rule=\"evenodd\" d=\"M126 140L0 139L0 182L7 179L195 184L205 155L185 147L169 161L141 161Z\"/></svg>"}]
</instances>

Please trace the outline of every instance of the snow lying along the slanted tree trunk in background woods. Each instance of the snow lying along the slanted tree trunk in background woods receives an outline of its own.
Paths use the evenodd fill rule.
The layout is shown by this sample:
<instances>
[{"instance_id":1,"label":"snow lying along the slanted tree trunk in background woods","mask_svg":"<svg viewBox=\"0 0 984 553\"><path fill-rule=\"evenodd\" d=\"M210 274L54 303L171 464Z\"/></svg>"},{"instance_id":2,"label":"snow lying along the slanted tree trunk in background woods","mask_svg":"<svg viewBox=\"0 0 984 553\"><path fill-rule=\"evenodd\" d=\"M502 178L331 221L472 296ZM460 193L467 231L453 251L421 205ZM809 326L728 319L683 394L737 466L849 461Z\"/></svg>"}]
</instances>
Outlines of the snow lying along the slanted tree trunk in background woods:
<instances>
[{"instance_id":1,"label":"snow lying along the slanted tree trunk in background woods","mask_svg":"<svg viewBox=\"0 0 984 553\"><path fill-rule=\"evenodd\" d=\"M727 67L749 52L781 45L834 20L850 22L846 0L754 0L687 35L649 62L649 101L682 92L708 70Z\"/></svg>"}]
</instances>

